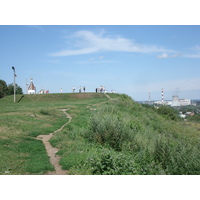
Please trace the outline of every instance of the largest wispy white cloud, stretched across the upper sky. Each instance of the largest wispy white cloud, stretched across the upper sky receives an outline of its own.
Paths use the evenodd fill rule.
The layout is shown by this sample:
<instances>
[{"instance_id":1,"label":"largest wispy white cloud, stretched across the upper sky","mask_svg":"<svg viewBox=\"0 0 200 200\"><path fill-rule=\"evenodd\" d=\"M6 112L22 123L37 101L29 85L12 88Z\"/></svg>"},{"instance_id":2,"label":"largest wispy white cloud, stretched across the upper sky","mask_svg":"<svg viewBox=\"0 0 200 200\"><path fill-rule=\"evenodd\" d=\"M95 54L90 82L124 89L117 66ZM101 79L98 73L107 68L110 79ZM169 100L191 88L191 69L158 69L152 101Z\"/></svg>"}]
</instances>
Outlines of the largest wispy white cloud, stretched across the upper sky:
<instances>
[{"instance_id":1,"label":"largest wispy white cloud, stretched across the upper sky","mask_svg":"<svg viewBox=\"0 0 200 200\"><path fill-rule=\"evenodd\" d=\"M96 34L91 31L78 31L70 39L75 39L72 48L52 53L51 56L72 56L101 51L133 53L172 52L172 50L165 49L164 47L138 44L133 40L120 36L106 36L104 32Z\"/></svg>"}]
</instances>

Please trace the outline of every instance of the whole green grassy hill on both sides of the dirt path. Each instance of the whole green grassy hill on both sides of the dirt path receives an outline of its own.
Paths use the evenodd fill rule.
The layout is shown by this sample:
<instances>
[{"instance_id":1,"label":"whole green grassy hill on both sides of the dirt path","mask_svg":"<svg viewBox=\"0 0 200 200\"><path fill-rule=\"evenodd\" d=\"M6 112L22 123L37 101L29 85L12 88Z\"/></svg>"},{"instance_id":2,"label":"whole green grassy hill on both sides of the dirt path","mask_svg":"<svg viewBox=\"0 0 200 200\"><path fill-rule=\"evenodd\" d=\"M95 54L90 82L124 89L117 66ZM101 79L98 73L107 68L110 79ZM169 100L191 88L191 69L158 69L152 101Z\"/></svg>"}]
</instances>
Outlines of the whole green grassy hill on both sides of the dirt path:
<instances>
[{"instance_id":1,"label":"whole green grassy hill on both sides of the dirt path","mask_svg":"<svg viewBox=\"0 0 200 200\"><path fill-rule=\"evenodd\" d=\"M200 174L200 133L126 95L74 93L0 99L0 174L52 171L45 148L34 139L66 123L51 144L70 174ZM166 113L166 114L163 114Z\"/></svg>"}]
</instances>

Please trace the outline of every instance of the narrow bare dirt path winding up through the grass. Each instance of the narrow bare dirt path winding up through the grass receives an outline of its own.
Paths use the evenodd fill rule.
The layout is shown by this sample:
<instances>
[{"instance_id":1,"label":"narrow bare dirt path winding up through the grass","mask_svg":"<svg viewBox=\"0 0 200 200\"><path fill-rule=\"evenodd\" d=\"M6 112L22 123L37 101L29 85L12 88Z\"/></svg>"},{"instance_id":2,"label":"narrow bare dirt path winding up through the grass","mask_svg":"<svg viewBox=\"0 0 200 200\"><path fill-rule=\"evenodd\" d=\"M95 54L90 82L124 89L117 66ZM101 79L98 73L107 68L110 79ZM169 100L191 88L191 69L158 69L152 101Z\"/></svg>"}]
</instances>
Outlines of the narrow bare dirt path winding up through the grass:
<instances>
[{"instance_id":1,"label":"narrow bare dirt path winding up through the grass","mask_svg":"<svg viewBox=\"0 0 200 200\"><path fill-rule=\"evenodd\" d=\"M59 151L59 149L54 148L51 146L49 140L53 137L54 133L57 133L61 131L67 124L71 122L72 117L66 113L68 109L60 109L60 111L64 112L66 114L66 117L69 119L67 123L65 123L61 128L54 131L53 133L50 133L49 135L39 135L37 137L38 140L42 140L47 154L50 157L50 163L54 166L55 171L48 172L46 175L66 175L68 174L68 170L62 170L62 167L59 165L60 156L56 155L56 153Z\"/></svg>"}]
</instances>

